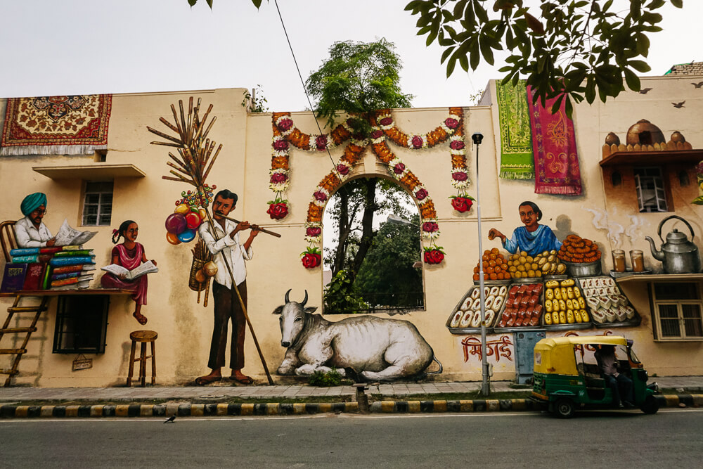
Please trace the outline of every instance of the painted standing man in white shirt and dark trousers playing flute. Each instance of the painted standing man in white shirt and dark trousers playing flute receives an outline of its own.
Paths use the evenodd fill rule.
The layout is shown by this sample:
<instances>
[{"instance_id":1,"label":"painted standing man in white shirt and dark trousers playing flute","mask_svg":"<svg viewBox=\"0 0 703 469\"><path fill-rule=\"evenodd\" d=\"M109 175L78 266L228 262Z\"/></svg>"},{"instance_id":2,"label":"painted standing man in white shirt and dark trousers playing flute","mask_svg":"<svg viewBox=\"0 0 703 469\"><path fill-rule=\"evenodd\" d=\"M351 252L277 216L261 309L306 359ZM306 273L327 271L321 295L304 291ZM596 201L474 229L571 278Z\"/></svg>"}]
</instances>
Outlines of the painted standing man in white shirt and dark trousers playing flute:
<instances>
[{"instance_id":1,"label":"painted standing man in white shirt and dark trousers playing flute","mask_svg":"<svg viewBox=\"0 0 703 469\"><path fill-rule=\"evenodd\" d=\"M222 379L221 368L225 364L228 323L232 321L230 345L231 379L237 383L250 385L252 378L242 373L244 368L244 338L246 332L245 314L238 295L232 285L236 282L244 307L247 307L247 267L245 261L253 256L252 242L259 234L259 227L248 221L234 223L226 219L237 205L237 194L227 189L219 191L212 203L214 226L203 222L198 228L200 238L207 245L217 265L212 296L214 297L214 325L207 366L210 373L195 379L196 385L208 385ZM242 244L240 231L250 230L249 237ZM230 275L230 271L232 275Z\"/></svg>"}]
</instances>

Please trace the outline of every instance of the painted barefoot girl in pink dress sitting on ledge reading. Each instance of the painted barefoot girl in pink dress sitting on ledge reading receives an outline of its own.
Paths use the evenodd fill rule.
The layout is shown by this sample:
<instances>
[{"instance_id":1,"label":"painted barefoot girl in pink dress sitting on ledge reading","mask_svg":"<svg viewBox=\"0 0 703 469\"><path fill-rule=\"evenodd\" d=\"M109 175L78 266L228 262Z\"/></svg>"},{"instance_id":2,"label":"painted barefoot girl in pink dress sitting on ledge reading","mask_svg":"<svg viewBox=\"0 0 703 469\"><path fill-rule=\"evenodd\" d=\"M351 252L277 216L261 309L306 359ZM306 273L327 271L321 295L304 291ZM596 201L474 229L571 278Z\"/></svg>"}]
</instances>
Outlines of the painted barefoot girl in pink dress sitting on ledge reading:
<instances>
[{"instance_id":1,"label":"painted barefoot girl in pink dress sitting on ledge reading","mask_svg":"<svg viewBox=\"0 0 703 469\"><path fill-rule=\"evenodd\" d=\"M123 266L125 269L132 270L138 267L142 262L147 262L144 246L136 242L136 237L139 233L139 227L132 220L123 221L120 228L112 231L112 243L117 244L120 238L124 238L122 244L117 244L112 248L112 264ZM155 260L152 260L156 264ZM132 316L139 321L141 325L146 324L146 316L141 314L141 307L146 304L146 290L148 287L147 276L143 275L134 280L125 280L124 274L115 276L110 272L105 272L101 278L101 284L104 288L122 288L122 290L132 290L132 299L136 303L136 308Z\"/></svg>"}]
</instances>

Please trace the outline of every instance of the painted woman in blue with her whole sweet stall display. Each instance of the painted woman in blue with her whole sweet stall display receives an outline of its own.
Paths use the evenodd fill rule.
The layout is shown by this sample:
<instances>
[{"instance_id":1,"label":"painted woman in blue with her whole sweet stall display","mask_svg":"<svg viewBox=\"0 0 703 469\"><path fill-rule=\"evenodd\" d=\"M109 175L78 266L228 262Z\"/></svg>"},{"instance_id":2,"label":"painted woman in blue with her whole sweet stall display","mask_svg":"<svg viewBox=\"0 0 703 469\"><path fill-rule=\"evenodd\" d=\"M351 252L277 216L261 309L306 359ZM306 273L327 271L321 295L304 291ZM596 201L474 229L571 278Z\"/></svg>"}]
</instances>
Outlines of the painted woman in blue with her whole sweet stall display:
<instances>
[{"instance_id":1,"label":"painted woman in blue with her whole sweet stall display","mask_svg":"<svg viewBox=\"0 0 703 469\"><path fill-rule=\"evenodd\" d=\"M548 226L538 224L541 218L539 207L527 201L520 204L525 226L515 229L512 239L489 230L489 239L501 238L503 248L512 254L506 260L498 248L484 252L483 324L477 265L475 286L446 321L450 333L479 333L481 326L489 333L502 333L640 325L640 316L614 275L602 276L598 244L576 234L567 235L562 243Z\"/></svg>"}]
</instances>

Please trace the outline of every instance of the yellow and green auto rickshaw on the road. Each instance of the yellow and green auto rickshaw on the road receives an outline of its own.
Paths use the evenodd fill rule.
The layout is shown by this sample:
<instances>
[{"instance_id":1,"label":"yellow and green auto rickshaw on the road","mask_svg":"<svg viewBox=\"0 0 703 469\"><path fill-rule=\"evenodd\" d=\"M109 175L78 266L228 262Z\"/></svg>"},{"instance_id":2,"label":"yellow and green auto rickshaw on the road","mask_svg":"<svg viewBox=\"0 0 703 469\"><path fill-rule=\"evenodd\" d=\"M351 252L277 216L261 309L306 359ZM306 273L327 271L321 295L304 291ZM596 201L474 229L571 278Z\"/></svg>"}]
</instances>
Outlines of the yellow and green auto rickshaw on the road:
<instances>
[{"instance_id":1,"label":"yellow and green auto rickshaw on the road","mask_svg":"<svg viewBox=\"0 0 703 469\"><path fill-rule=\"evenodd\" d=\"M647 385L647 371L624 337L572 336L546 338L534 346L534 387L531 399L555 416L570 418L576 409L613 409L613 392L602 375L595 351L616 347L618 373L632 380L633 403L644 413L656 413L657 383Z\"/></svg>"}]
</instances>

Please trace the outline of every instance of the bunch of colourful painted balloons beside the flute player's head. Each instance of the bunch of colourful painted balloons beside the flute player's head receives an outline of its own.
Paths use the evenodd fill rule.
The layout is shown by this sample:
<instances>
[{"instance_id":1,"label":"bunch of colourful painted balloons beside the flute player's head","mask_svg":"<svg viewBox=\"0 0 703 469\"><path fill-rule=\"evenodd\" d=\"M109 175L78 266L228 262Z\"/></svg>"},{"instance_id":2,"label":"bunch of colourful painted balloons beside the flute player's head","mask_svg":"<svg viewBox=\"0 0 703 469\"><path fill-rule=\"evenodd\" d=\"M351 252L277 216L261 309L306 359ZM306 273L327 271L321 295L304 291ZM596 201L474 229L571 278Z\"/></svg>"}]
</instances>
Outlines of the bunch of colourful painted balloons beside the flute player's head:
<instances>
[{"instance_id":1,"label":"bunch of colourful painted balloons beside the flute player's head","mask_svg":"<svg viewBox=\"0 0 703 469\"><path fill-rule=\"evenodd\" d=\"M183 192L183 198L176 200L176 210L166 218L166 240L172 245L190 243L195 239L198 226L207 219L207 205L212 202L215 186L205 187L198 192Z\"/></svg>"}]
</instances>

